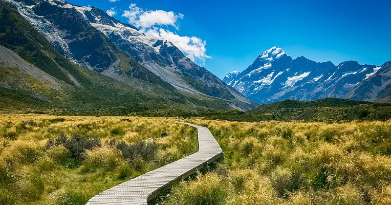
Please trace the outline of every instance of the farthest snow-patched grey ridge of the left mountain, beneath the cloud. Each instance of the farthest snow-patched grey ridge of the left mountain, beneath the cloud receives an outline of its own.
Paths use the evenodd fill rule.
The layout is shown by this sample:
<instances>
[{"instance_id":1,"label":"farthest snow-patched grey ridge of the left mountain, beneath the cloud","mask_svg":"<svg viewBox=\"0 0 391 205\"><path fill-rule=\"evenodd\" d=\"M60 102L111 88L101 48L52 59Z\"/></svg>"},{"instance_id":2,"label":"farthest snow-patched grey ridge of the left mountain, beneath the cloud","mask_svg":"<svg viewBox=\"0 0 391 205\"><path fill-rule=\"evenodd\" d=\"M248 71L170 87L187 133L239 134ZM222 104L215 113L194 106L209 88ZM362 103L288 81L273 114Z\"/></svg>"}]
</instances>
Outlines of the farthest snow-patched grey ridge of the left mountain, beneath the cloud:
<instances>
[{"instance_id":1,"label":"farthest snow-patched grey ridge of the left mountain, beneath the cloud","mask_svg":"<svg viewBox=\"0 0 391 205\"><path fill-rule=\"evenodd\" d=\"M96 10L99 9L83 11L87 17L91 16L91 25L174 88L188 93L206 93L224 99L236 98L241 103L252 103L235 89L227 87L217 76L183 55L172 42L160 37L148 37L129 24L118 22L106 13Z\"/></svg>"}]
</instances>

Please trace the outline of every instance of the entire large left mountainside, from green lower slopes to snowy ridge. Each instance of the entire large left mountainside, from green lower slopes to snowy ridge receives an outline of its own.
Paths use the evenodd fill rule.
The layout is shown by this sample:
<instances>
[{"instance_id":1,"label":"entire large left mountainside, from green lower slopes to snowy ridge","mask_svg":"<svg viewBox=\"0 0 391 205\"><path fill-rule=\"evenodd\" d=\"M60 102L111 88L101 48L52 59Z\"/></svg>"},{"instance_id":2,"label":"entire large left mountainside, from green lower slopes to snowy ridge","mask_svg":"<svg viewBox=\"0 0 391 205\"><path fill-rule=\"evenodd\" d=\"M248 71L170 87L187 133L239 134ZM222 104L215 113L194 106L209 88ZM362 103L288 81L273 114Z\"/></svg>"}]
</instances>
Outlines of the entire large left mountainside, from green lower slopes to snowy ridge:
<instances>
[{"instance_id":1,"label":"entire large left mountainside, from green lower slopes to snowy ridge","mask_svg":"<svg viewBox=\"0 0 391 205\"><path fill-rule=\"evenodd\" d=\"M0 0L0 70L3 109L118 114L257 105L173 43L64 0Z\"/></svg>"}]
</instances>

